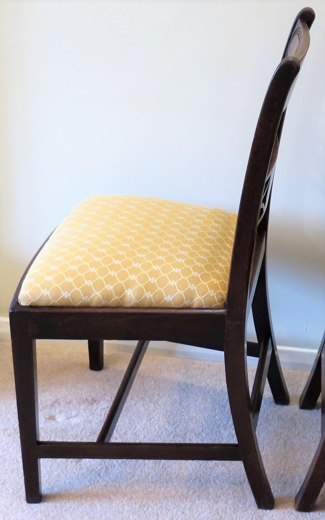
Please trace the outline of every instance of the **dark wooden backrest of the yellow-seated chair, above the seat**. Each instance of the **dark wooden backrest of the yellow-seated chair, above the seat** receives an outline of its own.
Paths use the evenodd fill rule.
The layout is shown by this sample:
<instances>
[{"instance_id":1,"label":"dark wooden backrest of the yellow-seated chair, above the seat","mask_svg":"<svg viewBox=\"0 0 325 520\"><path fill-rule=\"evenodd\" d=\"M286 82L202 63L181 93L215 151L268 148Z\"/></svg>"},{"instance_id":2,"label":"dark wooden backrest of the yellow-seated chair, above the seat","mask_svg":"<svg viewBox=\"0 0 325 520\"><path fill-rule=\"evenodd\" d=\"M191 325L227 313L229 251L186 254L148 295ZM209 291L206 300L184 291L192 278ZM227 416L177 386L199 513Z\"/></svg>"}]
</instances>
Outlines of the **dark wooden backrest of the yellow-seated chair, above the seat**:
<instances>
[{"instance_id":1,"label":"dark wooden backrest of the yellow-seated chair, above the seat","mask_svg":"<svg viewBox=\"0 0 325 520\"><path fill-rule=\"evenodd\" d=\"M313 9L302 9L291 29L282 60L267 89L259 114L239 205L227 297L227 315L242 318L261 266L269 203L288 102L307 53Z\"/></svg>"}]
</instances>

